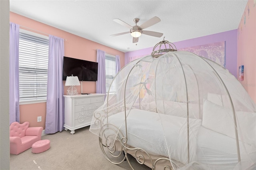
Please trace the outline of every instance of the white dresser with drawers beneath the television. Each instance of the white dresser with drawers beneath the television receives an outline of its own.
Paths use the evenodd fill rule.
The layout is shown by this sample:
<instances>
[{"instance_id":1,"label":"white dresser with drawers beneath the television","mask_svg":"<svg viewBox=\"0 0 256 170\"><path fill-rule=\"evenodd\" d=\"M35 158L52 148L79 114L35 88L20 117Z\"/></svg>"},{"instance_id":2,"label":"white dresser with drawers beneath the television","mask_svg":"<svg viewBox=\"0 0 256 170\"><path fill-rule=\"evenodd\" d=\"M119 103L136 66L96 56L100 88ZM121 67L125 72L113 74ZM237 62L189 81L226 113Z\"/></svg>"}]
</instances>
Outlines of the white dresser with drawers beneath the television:
<instances>
[{"instance_id":1,"label":"white dresser with drawers beneath the television","mask_svg":"<svg viewBox=\"0 0 256 170\"><path fill-rule=\"evenodd\" d=\"M64 128L74 134L78 128L91 124L92 115L104 103L105 94L64 95Z\"/></svg>"}]
</instances>

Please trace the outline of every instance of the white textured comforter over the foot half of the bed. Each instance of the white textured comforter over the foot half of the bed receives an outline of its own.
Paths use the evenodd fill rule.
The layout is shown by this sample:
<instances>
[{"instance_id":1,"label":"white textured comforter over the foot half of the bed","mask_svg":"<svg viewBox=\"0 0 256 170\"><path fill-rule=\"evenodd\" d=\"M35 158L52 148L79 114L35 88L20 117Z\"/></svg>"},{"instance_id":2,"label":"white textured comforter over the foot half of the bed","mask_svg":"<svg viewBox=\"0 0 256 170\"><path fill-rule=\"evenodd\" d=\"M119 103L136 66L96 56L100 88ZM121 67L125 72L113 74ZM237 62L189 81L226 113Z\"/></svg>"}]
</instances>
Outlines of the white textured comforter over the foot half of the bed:
<instances>
[{"instance_id":1,"label":"white textured comforter over the foot half of the bed","mask_svg":"<svg viewBox=\"0 0 256 170\"><path fill-rule=\"evenodd\" d=\"M127 144L149 154L162 155L183 164L188 161L187 119L150 111L132 109L127 116ZM124 112L112 115L108 123L120 127L125 134ZM196 160L196 135L201 120L189 119L190 161ZM163 128L164 127L164 128ZM164 130L165 129L165 130ZM170 151L170 152L169 152Z\"/></svg>"}]
</instances>

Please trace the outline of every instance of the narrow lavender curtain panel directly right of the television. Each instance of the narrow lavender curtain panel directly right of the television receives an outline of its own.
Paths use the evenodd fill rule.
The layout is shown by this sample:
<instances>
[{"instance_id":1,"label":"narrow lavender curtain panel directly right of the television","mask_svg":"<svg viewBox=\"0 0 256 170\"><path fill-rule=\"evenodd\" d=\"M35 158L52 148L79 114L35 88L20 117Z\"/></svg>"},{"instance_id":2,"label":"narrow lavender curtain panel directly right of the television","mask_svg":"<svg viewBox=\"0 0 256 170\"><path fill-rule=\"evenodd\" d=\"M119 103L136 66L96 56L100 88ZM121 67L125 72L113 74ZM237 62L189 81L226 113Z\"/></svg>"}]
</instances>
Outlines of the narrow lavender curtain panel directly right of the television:
<instances>
[{"instance_id":1,"label":"narrow lavender curtain panel directly right of the television","mask_svg":"<svg viewBox=\"0 0 256 170\"><path fill-rule=\"evenodd\" d=\"M98 77L96 93L106 94L105 51L97 49Z\"/></svg>"}]
</instances>

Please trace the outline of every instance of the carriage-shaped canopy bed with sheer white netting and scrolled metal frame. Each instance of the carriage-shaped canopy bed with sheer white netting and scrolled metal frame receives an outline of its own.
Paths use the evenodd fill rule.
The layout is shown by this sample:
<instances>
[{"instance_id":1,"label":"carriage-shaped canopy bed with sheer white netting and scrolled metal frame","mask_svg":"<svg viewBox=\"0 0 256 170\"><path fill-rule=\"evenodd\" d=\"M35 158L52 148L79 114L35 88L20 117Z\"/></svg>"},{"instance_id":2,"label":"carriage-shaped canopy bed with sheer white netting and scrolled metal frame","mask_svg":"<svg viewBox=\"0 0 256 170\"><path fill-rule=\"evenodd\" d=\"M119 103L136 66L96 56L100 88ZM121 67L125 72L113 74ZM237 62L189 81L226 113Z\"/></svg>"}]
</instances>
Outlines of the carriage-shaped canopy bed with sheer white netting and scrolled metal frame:
<instances>
[{"instance_id":1,"label":"carriage-shaped canopy bed with sheer white netting and scrolled metal frame","mask_svg":"<svg viewBox=\"0 0 256 170\"><path fill-rule=\"evenodd\" d=\"M163 40L112 85L90 126L110 162L130 164L131 154L152 170L256 169L256 105L214 61Z\"/></svg>"}]
</instances>

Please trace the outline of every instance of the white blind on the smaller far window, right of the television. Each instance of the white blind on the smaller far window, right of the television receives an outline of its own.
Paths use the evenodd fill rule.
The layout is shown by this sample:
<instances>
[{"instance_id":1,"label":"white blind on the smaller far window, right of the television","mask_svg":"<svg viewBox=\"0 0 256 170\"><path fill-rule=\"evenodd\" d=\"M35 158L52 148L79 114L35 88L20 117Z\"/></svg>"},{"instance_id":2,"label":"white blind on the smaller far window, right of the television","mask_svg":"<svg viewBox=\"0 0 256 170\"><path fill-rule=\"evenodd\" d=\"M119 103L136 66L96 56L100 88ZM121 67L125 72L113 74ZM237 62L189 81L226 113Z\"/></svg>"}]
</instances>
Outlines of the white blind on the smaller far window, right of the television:
<instances>
[{"instance_id":1,"label":"white blind on the smaller far window, right of the television","mask_svg":"<svg viewBox=\"0 0 256 170\"><path fill-rule=\"evenodd\" d=\"M116 58L110 55L105 56L105 69L106 69L106 93L116 92L116 83L114 82L110 88L114 77L116 76ZM110 89L109 89L110 88Z\"/></svg>"}]
</instances>

